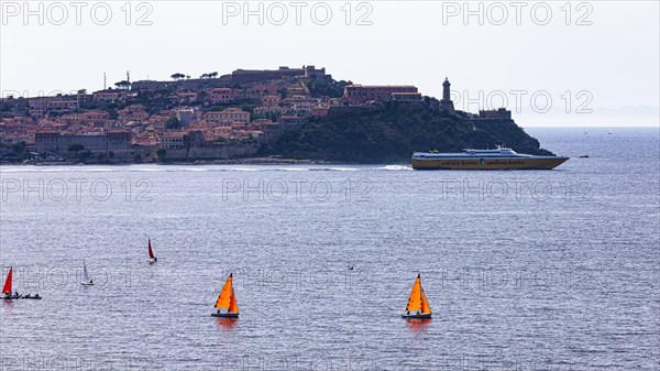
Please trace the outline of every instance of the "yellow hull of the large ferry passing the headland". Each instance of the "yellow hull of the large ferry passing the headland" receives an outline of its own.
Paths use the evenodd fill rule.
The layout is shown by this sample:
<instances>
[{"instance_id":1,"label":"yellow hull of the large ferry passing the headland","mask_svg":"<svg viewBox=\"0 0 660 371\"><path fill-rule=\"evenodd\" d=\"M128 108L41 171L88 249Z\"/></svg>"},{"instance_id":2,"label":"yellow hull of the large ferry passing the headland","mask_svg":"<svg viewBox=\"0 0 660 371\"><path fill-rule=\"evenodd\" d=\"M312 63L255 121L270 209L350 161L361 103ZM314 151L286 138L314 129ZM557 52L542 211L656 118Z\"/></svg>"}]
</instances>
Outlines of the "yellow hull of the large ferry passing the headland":
<instances>
[{"instance_id":1,"label":"yellow hull of the large ferry passing the headland","mask_svg":"<svg viewBox=\"0 0 660 371\"><path fill-rule=\"evenodd\" d=\"M415 170L551 170L568 157L413 159Z\"/></svg>"}]
</instances>

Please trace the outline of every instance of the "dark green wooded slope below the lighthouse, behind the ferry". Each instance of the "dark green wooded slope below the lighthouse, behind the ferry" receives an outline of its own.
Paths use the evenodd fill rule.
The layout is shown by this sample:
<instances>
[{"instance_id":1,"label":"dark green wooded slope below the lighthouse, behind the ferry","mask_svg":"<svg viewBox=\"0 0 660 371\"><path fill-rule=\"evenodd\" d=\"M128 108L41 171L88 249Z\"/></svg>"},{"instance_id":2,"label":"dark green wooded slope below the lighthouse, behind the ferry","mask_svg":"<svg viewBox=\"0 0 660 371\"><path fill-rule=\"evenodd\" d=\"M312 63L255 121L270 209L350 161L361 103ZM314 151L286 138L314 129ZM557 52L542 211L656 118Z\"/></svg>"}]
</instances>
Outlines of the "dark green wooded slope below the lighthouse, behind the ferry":
<instances>
[{"instance_id":1,"label":"dark green wooded slope below the lighthouse, behind the ferry","mask_svg":"<svg viewBox=\"0 0 660 371\"><path fill-rule=\"evenodd\" d=\"M551 154L539 148L513 120L468 120L429 108L396 103L370 111L317 118L286 133L268 154L342 162L407 162L415 151L510 146L529 154Z\"/></svg>"}]
</instances>

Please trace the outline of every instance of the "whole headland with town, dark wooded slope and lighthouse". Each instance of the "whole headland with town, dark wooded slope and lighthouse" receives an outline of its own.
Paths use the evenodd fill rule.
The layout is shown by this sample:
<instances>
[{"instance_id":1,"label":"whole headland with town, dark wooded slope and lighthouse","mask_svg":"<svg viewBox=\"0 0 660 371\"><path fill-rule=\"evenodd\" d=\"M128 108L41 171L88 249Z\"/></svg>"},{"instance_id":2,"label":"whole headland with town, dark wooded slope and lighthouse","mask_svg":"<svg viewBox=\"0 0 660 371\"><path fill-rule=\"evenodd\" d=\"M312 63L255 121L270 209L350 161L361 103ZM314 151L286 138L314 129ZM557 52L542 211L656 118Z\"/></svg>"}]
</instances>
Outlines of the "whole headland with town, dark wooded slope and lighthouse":
<instances>
[{"instance_id":1,"label":"whole headland with town, dark wooded slope and lighthouse","mask_svg":"<svg viewBox=\"0 0 660 371\"><path fill-rule=\"evenodd\" d=\"M506 108L454 109L448 78L440 99L315 66L127 75L114 86L0 99L0 163L399 163L416 151L498 145L551 154Z\"/></svg>"}]
</instances>

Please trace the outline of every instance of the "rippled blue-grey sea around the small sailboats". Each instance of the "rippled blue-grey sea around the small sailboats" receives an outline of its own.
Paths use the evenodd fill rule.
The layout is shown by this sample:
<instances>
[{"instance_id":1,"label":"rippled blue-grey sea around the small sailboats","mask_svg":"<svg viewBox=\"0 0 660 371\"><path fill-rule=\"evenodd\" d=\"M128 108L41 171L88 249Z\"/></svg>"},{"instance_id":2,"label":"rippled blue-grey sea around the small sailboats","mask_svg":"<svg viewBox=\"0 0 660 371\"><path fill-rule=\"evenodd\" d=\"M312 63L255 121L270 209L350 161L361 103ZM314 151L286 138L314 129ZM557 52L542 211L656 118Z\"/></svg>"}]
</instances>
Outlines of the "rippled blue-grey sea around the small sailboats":
<instances>
[{"instance_id":1,"label":"rippled blue-grey sea around the small sailboats","mask_svg":"<svg viewBox=\"0 0 660 371\"><path fill-rule=\"evenodd\" d=\"M572 159L2 166L2 370L658 370L658 129L528 131Z\"/></svg>"}]
</instances>

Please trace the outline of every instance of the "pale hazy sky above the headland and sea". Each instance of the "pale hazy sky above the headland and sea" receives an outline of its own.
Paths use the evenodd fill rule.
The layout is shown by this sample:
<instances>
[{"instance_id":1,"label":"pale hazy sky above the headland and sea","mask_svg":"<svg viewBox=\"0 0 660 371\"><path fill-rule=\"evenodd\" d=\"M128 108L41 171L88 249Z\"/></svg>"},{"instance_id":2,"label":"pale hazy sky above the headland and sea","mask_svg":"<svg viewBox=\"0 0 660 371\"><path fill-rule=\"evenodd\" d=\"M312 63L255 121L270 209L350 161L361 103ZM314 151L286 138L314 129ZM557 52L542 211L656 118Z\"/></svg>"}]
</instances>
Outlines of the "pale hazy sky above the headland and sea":
<instances>
[{"instance_id":1,"label":"pale hazy sky above the headland and sea","mask_svg":"<svg viewBox=\"0 0 660 371\"><path fill-rule=\"evenodd\" d=\"M103 73L113 85L127 70L139 80L316 65L438 97L447 75L470 111L503 99L542 110L549 97L571 112L660 99L658 1L23 3L2 1L2 96L98 90Z\"/></svg>"}]
</instances>

